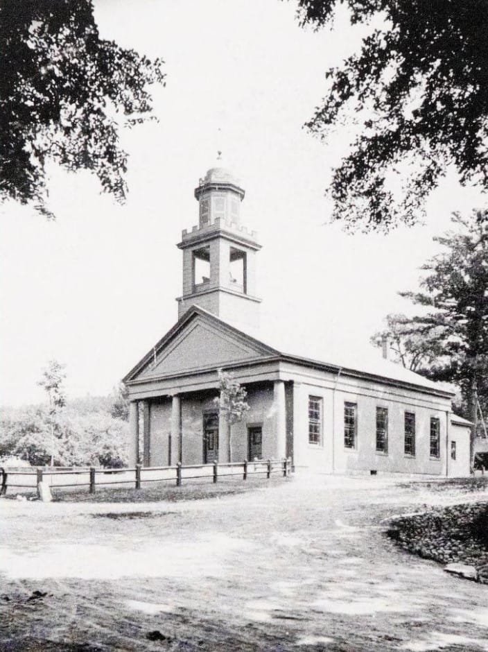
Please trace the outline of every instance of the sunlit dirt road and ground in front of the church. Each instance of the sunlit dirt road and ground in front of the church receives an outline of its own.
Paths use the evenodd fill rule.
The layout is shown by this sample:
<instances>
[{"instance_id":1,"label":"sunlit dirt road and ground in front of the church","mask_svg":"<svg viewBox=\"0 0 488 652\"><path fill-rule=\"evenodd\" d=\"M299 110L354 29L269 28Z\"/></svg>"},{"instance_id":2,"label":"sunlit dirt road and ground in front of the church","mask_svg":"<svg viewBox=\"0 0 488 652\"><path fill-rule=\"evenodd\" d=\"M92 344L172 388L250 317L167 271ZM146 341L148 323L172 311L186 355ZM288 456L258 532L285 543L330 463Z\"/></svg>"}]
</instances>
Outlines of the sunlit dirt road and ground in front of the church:
<instances>
[{"instance_id":1,"label":"sunlit dirt road and ground in front of the church","mask_svg":"<svg viewBox=\"0 0 488 652\"><path fill-rule=\"evenodd\" d=\"M293 477L206 500L0 500L4 651L488 651L488 587L385 537L485 488Z\"/></svg>"}]
</instances>

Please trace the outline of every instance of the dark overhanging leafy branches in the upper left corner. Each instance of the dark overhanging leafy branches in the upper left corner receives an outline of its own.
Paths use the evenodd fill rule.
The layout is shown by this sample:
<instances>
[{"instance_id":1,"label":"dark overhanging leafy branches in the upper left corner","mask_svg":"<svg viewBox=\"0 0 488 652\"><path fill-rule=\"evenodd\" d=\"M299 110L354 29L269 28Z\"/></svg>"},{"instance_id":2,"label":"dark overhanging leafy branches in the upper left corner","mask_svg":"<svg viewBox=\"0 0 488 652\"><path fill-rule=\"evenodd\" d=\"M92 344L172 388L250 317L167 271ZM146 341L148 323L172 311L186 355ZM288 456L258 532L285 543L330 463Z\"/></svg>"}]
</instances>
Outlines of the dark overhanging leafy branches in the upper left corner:
<instances>
[{"instance_id":1,"label":"dark overhanging leafy branches in the upper left corner","mask_svg":"<svg viewBox=\"0 0 488 652\"><path fill-rule=\"evenodd\" d=\"M98 35L92 0L0 0L0 199L46 206L46 161L94 172L125 197L130 126L152 110L146 86L163 83L151 62Z\"/></svg>"}]
</instances>

